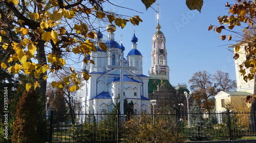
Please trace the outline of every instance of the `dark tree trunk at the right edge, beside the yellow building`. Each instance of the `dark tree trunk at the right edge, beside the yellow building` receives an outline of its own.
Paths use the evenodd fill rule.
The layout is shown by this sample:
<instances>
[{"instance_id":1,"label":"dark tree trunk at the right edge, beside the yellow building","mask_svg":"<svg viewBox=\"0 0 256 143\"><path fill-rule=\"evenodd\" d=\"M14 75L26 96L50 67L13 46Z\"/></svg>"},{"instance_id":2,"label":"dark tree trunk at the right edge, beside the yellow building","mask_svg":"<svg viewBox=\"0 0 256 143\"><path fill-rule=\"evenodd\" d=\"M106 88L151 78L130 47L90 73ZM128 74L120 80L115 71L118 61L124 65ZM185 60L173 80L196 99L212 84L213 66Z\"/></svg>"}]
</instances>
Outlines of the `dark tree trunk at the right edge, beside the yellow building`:
<instances>
[{"instance_id":1,"label":"dark tree trunk at the right edge, beside the yellow building","mask_svg":"<svg viewBox=\"0 0 256 143\"><path fill-rule=\"evenodd\" d=\"M256 94L256 75L255 75L255 73L254 73L253 94ZM256 130L256 101L255 101L254 97L253 97L252 102L251 102L251 109L250 110L251 110L251 115L250 115L249 127L252 131L255 131Z\"/></svg>"}]
</instances>

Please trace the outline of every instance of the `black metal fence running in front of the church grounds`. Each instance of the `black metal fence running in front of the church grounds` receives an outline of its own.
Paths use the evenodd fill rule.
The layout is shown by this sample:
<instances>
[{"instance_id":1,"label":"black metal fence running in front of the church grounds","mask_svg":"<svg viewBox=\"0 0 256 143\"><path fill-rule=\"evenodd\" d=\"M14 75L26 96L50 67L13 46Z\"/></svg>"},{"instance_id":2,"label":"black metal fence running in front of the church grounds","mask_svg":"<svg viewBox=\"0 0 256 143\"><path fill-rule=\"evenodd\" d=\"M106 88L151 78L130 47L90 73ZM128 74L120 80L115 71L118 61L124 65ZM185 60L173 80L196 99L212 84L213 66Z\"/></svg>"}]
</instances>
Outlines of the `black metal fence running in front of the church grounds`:
<instances>
[{"instance_id":1,"label":"black metal fence running in front of the church grounds","mask_svg":"<svg viewBox=\"0 0 256 143\"><path fill-rule=\"evenodd\" d=\"M256 112L218 113L167 113L146 115L151 124L161 120L167 127L176 129L183 138L194 139L237 139L242 136L256 136L254 123ZM143 114L145 115L145 114ZM75 124L71 116L54 114L45 117L48 121L49 139L46 142L121 142L129 138L131 119L143 115L121 115L120 113L75 114ZM10 118L8 117L8 121ZM255 118L255 119L254 119ZM1 116L1 128L6 117ZM154 120L153 120L154 119ZM188 120L189 119L189 120ZM254 122L255 121L255 122ZM11 123L10 123L11 124ZM11 131L11 129L9 130ZM4 133L4 130L1 130ZM4 134L0 137L4 138ZM10 134L10 133L9 133ZM3 136L2 136L3 135Z\"/></svg>"}]
</instances>

